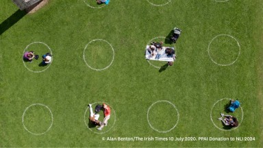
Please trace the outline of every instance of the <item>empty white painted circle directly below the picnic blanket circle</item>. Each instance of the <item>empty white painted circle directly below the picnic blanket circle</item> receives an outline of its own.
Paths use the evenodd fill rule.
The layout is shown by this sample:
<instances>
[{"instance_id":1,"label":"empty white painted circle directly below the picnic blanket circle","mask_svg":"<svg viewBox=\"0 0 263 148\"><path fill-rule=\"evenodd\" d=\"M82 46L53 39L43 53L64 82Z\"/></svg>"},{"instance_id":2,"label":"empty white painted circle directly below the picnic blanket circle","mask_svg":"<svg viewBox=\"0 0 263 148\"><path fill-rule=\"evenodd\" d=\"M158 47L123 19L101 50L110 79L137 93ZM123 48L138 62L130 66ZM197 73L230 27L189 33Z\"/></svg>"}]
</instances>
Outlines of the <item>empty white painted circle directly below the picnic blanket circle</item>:
<instances>
[{"instance_id":1,"label":"empty white painted circle directly below the picnic blanket circle","mask_svg":"<svg viewBox=\"0 0 263 148\"><path fill-rule=\"evenodd\" d=\"M149 111L151 110L151 108L156 104L156 103L169 103L171 104L171 106L173 106L173 108L175 108L176 112L177 112L177 121L175 123L175 125L170 129L170 130L166 130L166 131L160 131L160 130L157 130L155 129L155 127L153 127L153 125L151 125L151 122L149 121ZM167 132L170 132L171 130L173 130L178 121L179 121L179 112L175 106L175 104L171 103L170 101L166 101L166 100L160 100L160 101L155 101L153 104L151 104L151 106L148 108L148 111L147 111L147 121L148 121L148 124L150 125L151 129L155 130L156 132L160 132L160 133L167 133Z\"/></svg>"}]
</instances>

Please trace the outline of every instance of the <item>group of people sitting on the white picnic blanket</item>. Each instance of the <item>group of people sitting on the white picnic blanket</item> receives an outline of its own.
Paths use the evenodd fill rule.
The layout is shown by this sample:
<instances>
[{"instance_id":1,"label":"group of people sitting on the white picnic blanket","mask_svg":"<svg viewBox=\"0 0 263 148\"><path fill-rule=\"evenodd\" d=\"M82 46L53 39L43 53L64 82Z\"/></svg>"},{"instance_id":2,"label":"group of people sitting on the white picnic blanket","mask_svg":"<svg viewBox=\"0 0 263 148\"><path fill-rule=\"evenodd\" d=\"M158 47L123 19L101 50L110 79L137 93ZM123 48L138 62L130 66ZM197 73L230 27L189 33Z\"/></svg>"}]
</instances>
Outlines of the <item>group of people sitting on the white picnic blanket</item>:
<instances>
[{"instance_id":1,"label":"group of people sitting on the white picnic blanket","mask_svg":"<svg viewBox=\"0 0 263 148\"><path fill-rule=\"evenodd\" d=\"M151 58L159 59L163 51L165 52L166 56L168 58L173 58L175 60L175 50L169 47L163 47L163 42L151 42L151 45L149 48L147 48L147 51L150 53ZM170 66L173 65L173 62L168 62Z\"/></svg>"}]
</instances>

